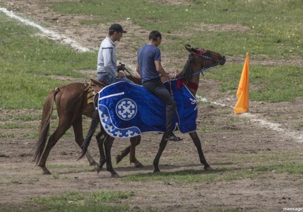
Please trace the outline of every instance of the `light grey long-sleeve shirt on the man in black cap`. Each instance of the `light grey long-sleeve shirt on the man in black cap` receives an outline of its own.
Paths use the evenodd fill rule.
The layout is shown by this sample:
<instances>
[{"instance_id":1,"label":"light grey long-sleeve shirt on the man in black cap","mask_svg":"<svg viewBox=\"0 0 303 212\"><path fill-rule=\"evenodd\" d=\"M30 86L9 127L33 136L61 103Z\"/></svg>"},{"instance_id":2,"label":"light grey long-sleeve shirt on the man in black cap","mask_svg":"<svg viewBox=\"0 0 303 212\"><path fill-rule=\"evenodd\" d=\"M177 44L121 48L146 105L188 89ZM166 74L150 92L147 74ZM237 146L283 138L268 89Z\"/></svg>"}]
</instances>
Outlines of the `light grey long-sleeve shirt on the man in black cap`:
<instances>
[{"instance_id":1,"label":"light grey long-sleeve shirt on the man in black cap","mask_svg":"<svg viewBox=\"0 0 303 212\"><path fill-rule=\"evenodd\" d=\"M108 36L102 41L99 48L97 71L108 72L114 77L118 76L116 45Z\"/></svg>"}]
</instances>

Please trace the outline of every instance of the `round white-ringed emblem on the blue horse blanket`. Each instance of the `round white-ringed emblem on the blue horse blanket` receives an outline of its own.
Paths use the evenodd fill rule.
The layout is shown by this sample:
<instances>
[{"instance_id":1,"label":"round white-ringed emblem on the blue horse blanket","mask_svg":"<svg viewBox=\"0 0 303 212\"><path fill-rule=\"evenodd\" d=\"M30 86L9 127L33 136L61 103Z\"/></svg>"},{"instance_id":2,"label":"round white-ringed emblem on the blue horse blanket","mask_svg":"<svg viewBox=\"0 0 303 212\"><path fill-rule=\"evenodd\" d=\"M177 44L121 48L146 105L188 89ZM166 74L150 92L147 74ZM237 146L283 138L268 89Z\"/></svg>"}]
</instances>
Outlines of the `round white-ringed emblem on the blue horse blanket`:
<instances>
[{"instance_id":1,"label":"round white-ringed emblem on the blue horse blanket","mask_svg":"<svg viewBox=\"0 0 303 212\"><path fill-rule=\"evenodd\" d=\"M116 113L123 120L130 120L137 113L137 105L131 99L122 99L116 106Z\"/></svg>"}]
</instances>

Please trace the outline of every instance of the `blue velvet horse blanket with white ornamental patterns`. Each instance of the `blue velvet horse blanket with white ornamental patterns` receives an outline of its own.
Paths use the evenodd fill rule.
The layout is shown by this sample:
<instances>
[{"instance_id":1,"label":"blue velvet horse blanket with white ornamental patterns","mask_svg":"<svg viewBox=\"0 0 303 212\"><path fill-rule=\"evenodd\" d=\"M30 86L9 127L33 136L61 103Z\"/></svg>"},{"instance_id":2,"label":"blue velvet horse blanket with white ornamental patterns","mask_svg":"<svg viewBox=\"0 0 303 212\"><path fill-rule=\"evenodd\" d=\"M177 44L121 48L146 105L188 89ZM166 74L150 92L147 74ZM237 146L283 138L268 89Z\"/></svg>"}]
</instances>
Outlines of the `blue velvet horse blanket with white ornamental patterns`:
<instances>
[{"instance_id":1,"label":"blue velvet horse blanket with white ornamental patterns","mask_svg":"<svg viewBox=\"0 0 303 212\"><path fill-rule=\"evenodd\" d=\"M164 83L170 91L169 82ZM174 131L196 131L198 104L186 86L177 88L177 80L171 81L177 113ZM164 133L166 115L164 103L145 87L127 82L117 82L99 91L100 121L105 131L116 138L129 138L147 132Z\"/></svg>"}]
</instances>

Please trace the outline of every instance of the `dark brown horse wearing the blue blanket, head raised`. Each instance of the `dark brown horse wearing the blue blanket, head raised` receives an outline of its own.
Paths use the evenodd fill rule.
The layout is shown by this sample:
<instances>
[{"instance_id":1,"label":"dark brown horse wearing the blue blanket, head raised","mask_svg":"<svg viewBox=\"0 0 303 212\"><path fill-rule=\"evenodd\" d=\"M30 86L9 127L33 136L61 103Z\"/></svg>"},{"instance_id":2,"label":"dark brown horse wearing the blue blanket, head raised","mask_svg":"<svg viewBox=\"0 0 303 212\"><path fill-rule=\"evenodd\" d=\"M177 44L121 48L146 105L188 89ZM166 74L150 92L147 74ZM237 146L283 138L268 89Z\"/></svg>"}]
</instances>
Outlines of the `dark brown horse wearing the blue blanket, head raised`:
<instances>
[{"instance_id":1,"label":"dark brown horse wearing the blue blanket, head raised","mask_svg":"<svg viewBox=\"0 0 303 212\"><path fill-rule=\"evenodd\" d=\"M186 62L186 65L184 66L183 70L179 74L178 78L183 79L185 85L188 87L189 91L191 94L194 96L196 95L198 84L199 84L199 78L200 74L199 71L202 71L202 69L206 69L215 65L224 65L225 64L225 56L222 56L219 53L205 50L202 48L192 48L189 45L185 45L185 48L190 52L188 56L188 61ZM98 98L95 98L95 105L98 101ZM196 120L193 120L196 121ZM100 122L98 110L95 111L94 116L92 118L92 123L91 127L88 131L88 135L85 138L83 148L82 148L82 155L80 156L83 157L86 154L86 150L88 148L89 142L92 138L92 135L95 131L95 129L98 126L98 123ZM211 170L211 167L208 165L206 162L206 159L203 155L203 151L201 148L201 142L200 139L197 135L197 132L191 132L189 133L191 139L193 140L198 154L199 154L199 159L200 162L204 165L205 170ZM107 136L104 141L104 146L105 146L105 157L106 157L106 168L109 172L111 172L112 177L119 177L119 175L113 170L112 167L112 162L111 162L111 147L113 144L114 138ZM154 172L158 172L159 167L159 159L161 157L162 152L164 151L166 147L167 141L165 140L165 136L163 135L161 142L160 142L160 147L158 150L158 153L155 157L155 160L153 162L154 165Z\"/></svg>"}]
</instances>

